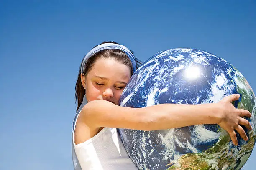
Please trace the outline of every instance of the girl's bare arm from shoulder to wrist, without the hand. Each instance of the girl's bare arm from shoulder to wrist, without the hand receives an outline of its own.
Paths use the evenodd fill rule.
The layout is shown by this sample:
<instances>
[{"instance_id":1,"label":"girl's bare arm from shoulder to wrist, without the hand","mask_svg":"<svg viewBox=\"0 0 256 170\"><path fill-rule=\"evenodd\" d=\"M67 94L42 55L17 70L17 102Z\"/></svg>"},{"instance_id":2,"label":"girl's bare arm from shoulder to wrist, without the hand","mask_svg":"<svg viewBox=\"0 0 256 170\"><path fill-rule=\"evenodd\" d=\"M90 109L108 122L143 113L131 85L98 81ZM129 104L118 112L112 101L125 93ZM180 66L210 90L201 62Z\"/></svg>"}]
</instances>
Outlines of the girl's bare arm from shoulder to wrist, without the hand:
<instances>
[{"instance_id":1,"label":"girl's bare arm from shoulder to wrist, without the hand","mask_svg":"<svg viewBox=\"0 0 256 170\"><path fill-rule=\"evenodd\" d=\"M221 117L217 104L179 105L161 104L144 108L114 105L95 100L84 106L84 121L90 127L113 127L134 130L160 130L189 125L216 124ZM81 113L80 113L81 114Z\"/></svg>"}]
</instances>

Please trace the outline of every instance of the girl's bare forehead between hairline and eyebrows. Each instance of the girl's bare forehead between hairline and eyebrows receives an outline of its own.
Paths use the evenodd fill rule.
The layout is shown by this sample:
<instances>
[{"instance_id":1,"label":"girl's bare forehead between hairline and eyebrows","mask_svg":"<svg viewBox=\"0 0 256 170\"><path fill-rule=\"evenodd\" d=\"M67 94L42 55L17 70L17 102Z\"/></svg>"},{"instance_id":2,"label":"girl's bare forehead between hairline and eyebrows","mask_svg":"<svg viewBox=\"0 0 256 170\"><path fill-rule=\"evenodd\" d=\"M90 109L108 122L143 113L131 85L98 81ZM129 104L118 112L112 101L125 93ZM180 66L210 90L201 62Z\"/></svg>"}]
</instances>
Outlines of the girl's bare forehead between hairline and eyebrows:
<instances>
[{"instance_id":1,"label":"girl's bare forehead between hairline and eyebrows","mask_svg":"<svg viewBox=\"0 0 256 170\"><path fill-rule=\"evenodd\" d=\"M92 69L88 72L88 75L106 77L108 79L130 79L131 70L130 68L118 62L112 58L99 58L95 61Z\"/></svg>"}]
</instances>

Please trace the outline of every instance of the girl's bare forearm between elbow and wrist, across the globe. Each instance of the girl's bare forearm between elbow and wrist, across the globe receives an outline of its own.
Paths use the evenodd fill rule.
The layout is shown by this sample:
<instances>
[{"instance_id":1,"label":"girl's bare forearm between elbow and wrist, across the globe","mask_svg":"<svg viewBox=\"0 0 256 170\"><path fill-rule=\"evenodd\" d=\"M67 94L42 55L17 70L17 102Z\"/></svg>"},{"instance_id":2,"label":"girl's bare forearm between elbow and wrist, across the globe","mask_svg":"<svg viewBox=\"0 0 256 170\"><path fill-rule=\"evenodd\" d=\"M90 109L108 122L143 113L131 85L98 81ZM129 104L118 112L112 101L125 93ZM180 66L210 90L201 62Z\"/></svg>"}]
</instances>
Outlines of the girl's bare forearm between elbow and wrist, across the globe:
<instances>
[{"instance_id":1,"label":"girl's bare forearm between elbow and wrist, across the globe","mask_svg":"<svg viewBox=\"0 0 256 170\"><path fill-rule=\"evenodd\" d=\"M145 130L180 128L190 125L217 124L220 122L218 104L179 105L161 104L138 109L146 113Z\"/></svg>"}]
</instances>

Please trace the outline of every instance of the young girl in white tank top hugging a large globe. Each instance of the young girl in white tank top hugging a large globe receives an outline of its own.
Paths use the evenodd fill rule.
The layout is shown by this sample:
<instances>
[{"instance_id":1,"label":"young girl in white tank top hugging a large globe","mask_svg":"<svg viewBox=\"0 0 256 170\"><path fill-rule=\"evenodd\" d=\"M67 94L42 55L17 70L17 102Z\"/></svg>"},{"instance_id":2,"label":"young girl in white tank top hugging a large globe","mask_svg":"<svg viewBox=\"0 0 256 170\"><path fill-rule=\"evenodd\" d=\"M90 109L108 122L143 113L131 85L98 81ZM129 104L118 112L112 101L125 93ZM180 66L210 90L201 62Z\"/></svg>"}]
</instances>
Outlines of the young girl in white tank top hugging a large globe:
<instances>
[{"instance_id":1,"label":"young girl in white tank top hugging a large globe","mask_svg":"<svg viewBox=\"0 0 256 170\"><path fill-rule=\"evenodd\" d=\"M238 141L234 130L248 140L240 125L252 129L242 118L251 117L251 113L231 104L239 99L236 94L211 104L161 104L145 108L118 106L120 95L138 65L132 52L116 42L103 42L84 57L76 84L78 105L72 130L75 170L137 169L116 128L161 130L218 124L227 130L235 145Z\"/></svg>"}]
</instances>

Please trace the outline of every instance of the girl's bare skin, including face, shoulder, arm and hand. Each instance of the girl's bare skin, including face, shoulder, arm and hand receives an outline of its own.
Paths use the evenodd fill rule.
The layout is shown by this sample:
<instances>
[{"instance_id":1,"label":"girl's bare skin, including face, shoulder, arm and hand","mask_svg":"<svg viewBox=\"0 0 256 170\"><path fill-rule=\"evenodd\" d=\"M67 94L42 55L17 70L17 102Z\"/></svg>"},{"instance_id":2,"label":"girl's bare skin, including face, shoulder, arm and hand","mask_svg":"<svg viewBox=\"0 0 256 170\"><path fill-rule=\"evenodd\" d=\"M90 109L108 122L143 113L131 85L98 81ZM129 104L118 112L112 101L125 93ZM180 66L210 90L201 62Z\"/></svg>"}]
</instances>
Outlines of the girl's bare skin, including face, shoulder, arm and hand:
<instances>
[{"instance_id":1,"label":"girl's bare skin, including face, shoulder, arm and hand","mask_svg":"<svg viewBox=\"0 0 256 170\"><path fill-rule=\"evenodd\" d=\"M235 130L246 141L248 137L241 125L252 130L251 124L242 118L251 117L251 113L236 109L231 104L239 99L240 96L236 94L211 104L121 107L118 106L120 95L131 77L128 66L111 58L99 58L86 76L80 76L88 103L82 108L77 119L74 133L76 144L92 138L102 127L148 131L218 124L229 133L235 145L238 145Z\"/></svg>"}]
</instances>

